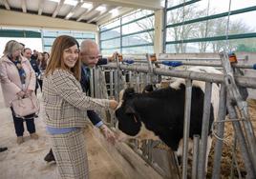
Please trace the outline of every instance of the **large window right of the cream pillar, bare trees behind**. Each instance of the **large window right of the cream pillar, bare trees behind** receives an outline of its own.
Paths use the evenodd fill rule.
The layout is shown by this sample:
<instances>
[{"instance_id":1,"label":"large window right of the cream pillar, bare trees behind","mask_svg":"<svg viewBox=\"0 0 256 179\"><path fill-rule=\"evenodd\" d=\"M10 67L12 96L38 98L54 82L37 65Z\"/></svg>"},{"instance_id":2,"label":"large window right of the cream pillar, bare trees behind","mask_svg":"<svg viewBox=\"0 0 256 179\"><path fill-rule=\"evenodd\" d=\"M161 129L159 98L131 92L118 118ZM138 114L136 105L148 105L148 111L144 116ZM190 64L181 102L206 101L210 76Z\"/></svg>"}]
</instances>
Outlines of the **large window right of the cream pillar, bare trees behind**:
<instances>
[{"instance_id":1,"label":"large window right of the cream pillar, bare trees behind","mask_svg":"<svg viewBox=\"0 0 256 179\"><path fill-rule=\"evenodd\" d=\"M166 52L256 50L256 1L217 1L168 0Z\"/></svg>"}]
</instances>

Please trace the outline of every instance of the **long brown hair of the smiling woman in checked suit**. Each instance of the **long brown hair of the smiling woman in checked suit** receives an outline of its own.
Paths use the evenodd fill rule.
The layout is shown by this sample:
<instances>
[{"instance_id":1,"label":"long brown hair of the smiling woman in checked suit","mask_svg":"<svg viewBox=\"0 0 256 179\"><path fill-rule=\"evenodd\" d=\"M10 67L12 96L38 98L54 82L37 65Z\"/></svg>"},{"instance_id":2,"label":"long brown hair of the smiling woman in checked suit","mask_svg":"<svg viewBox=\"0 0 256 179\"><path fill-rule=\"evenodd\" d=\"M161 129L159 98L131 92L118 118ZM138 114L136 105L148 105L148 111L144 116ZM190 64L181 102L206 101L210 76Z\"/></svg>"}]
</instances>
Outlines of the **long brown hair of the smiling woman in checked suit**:
<instances>
[{"instance_id":1,"label":"long brown hair of the smiling woman in checked suit","mask_svg":"<svg viewBox=\"0 0 256 179\"><path fill-rule=\"evenodd\" d=\"M54 42L53 42L53 47L51 50L51 55L50 59L45 71L45 75L47 76L48 74L52 74L54 70L56 69L62 69L62 70L69 70L69 68L65 65L64 63L64 58L63 58L63 52L64 50L77 46L77 49L79 50L79 44L75 40L74 37L68 36L68 35L61 35L58 36ZM75 78L79 81L81 77L81 64L80 64L80 59L78 57L75 67L69 70L73 73Z\"/></svg>"}]
</instances>

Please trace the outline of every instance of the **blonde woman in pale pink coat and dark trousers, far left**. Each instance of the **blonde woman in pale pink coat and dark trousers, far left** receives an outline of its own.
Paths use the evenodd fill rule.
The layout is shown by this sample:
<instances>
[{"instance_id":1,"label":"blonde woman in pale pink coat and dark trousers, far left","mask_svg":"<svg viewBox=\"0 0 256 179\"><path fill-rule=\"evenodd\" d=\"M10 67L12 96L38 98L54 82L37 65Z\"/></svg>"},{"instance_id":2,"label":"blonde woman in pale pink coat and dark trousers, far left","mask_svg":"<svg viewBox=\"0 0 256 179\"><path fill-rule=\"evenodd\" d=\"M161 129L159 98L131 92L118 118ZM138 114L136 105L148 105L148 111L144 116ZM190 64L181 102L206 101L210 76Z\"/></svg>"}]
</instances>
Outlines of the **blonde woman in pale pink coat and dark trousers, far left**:
<instances>
[{"instance_id":1,"label":"blonde woman in pale pink coat and dark trousers, far left","mask_svg":"<svg viewBox=\"0 0 256 179\"><path fill-rule=\"evenodd\" d=\"M23 46L11 40L6 44L4 56L0 59L0 82L4 95L6 107L11 108L11 101L25 95L34 95L35 75L30 61L21 55ZM13 109L11 113L14 122L14 128L17 135L17 143L24 142L23 132L24 120L15 116ZM32 139L38 139L35 133L34 120L31 116L25 119L27 129Z\"/></svg>"}]
</instances>

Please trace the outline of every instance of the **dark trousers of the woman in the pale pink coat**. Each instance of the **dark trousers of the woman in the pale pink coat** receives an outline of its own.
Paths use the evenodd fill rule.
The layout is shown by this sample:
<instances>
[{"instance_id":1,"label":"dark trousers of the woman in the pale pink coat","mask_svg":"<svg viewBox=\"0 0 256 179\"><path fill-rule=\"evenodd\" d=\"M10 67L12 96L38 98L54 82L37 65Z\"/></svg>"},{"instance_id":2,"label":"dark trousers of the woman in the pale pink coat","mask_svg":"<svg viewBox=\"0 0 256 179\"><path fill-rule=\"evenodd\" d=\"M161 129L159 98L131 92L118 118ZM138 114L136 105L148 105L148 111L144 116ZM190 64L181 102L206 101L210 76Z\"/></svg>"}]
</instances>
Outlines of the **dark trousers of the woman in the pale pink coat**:
<instances>
[{"instance_id":1,"label":"dark trousers of the woman in the pale pink coat","mask_svg":"<svg viewBox=\"0 0 256 179\"><path fill-rule=\"evenodd\" d=\"M16 132L17 137L23 136L23 132L24 132L23 122L24 121L26 122L26 126L27 126L28 131L30 133L35 132L35 126L34 126L33 118L32 119L22 119L22 118L16 117L12 108L11 108L11 114L12 114L12 118L13 118L13 122L14 122L14 128L15 128L15 132Z\"/></svg>"}]
</instances>

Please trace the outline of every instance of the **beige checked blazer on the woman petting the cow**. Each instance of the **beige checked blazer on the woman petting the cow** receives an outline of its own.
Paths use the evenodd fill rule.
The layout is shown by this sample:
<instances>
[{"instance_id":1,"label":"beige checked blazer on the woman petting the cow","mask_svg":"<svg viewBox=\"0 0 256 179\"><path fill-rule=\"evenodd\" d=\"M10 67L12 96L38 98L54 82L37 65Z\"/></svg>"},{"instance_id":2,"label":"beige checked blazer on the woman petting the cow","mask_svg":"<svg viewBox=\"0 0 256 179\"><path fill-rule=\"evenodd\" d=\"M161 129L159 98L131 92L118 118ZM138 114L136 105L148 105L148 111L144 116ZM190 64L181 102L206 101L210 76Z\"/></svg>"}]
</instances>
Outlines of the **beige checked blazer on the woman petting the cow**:
<instances>
[{"instance_id":1,"label":"beige checked blazer on the woman petting the cow","mask_svg":"<svg viewBox=\"0 0 256 179\"><path fill-rule=\"evenodd\" d=\"M50 127L84 128L88 123L86 110L109 108L108 99L87 96L68 70L54 70L43 83L45 121Z\"/></svg>"}]
</instances>

